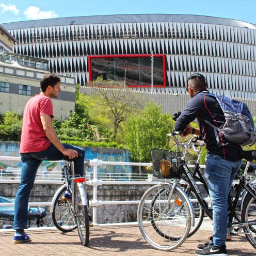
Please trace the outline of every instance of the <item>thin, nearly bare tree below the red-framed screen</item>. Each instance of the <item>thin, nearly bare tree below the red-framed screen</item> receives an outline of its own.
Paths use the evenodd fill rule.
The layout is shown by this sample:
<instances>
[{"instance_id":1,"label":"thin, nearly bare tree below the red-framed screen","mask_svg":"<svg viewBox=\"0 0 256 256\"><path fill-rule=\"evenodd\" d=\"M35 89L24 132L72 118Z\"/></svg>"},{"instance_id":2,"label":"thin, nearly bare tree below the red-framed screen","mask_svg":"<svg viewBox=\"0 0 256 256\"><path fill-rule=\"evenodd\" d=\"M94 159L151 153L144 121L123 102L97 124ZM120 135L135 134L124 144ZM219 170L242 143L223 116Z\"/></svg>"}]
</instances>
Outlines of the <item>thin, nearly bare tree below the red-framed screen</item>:
<instances>
[{"instance_id":1,"label":"thin, nearly bare tree below the red-framed screen","mask_svg":"<svg viewBox=\"0 0 256 256\"><path fill-rule=\"evenodd\" d=\"M115 81L104 81L98 77L91 83L99 96L97 111L108 116L113 124L113 138L117 136L120 124L131 114L138 113L144 104L141 94L125 89L124 85L117 86Z\"/></svg>"}]
</instances>

